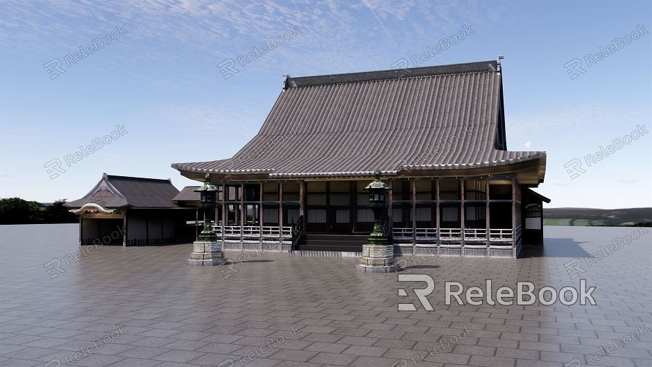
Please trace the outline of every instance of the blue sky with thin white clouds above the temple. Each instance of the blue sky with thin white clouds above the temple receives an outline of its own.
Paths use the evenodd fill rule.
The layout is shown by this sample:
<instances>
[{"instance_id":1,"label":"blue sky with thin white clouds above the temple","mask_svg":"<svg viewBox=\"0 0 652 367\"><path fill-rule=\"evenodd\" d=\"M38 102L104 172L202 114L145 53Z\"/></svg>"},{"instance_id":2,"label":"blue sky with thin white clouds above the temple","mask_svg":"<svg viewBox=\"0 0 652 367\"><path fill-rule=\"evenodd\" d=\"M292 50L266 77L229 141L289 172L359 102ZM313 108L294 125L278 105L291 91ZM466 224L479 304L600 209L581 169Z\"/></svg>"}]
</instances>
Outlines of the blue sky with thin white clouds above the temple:
<instances>
[{"instance_id":1,"label":"blue sky with thin white clouds above the temple","mask_svg":"<svg viewBox=\"0 0 652 367\"><path fill-rule=\"evenodd\" d=\"M547 151L538 191L549 207L652 206L651 133L590 167L584 159L637 125L652 130L651 1L126 3L1 3L1 197L73 200L103 172L191 185L170 164L230 157L257 133L284 74L391 69L400 59L412 67L413 55L466 26L465 40L418 66L505 56L508 148ZM291 26L298 34L221 74L218 64ZM67 65L112 31L116 39ZM635 31L642 36L587 65L587 54ZM57 58L65 73L52 79L44 65ZM571 78L575 58L584 72ZM117 125L128 133L51 180L44 164ZM571 179L564 166L574 158L585 172Z\"/></svg>"}]
</instances>

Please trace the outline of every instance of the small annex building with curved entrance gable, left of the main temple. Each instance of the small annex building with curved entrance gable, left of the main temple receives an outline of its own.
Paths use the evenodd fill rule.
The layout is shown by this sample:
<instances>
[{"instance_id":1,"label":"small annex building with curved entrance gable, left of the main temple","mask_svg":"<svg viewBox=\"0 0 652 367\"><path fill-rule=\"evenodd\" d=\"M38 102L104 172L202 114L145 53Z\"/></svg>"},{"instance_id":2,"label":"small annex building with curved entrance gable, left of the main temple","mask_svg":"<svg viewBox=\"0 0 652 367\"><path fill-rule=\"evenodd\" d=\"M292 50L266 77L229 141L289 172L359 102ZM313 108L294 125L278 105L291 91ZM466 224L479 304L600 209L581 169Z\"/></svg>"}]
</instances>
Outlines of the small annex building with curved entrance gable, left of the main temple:
<instances>
[{"instance_id":1,"label":"small annex building with curved entrance gable, left of the main temple","mask_svg":"<svg viewBox=\"0 0 652 367\"><path fill-rule=\"evenodd\" d=\"M66 203L79 216L79 244L146 246L194 241L196 203L175 200L171 180L112 176Z\"/></svg>"}]
</instances>

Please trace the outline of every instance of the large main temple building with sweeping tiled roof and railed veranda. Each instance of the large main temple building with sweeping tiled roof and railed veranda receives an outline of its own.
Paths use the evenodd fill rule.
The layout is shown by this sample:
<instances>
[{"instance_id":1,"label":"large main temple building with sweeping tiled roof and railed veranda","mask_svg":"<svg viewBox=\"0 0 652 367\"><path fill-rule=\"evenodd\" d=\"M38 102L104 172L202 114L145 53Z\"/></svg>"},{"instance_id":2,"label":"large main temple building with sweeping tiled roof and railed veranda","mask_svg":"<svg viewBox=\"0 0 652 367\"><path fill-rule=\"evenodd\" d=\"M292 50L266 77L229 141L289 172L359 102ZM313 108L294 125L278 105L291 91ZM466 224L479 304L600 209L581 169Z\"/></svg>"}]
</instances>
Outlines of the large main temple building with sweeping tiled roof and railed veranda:
<instances>
[{"instance_id":1,"label":"large main temple building with sweeping tiled roof and railed veranda","mask_svg":"<svg viewBox=\"0 0 652 367\"><path fill-rule=\"evenodd\" d=\"M259 133L233 157L172 164L218 196L225 250L359 253L373 214L363 188L391 188L397 255L513 258L542 244L546 153L508 151L499 60L286 76ZM196 187L175 205L196 203Z\"/></svg>"}]
</instances>

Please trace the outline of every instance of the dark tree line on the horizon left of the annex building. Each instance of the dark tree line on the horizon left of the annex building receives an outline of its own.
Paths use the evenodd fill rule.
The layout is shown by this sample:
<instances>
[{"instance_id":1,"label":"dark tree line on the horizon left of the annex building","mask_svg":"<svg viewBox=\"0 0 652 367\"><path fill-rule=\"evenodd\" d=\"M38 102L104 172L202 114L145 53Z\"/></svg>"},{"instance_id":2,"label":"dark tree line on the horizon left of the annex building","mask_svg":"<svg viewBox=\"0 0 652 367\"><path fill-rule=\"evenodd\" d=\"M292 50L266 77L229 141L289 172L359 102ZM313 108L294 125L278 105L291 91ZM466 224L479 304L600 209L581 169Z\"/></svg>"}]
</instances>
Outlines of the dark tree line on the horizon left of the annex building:
<instances>
[{"instance_id":1,"label":"dark tree line on the horizon left of the annex building","mask_svg":"<svg viewBox=\"0 0 652 367\"><path fill-rule=\"evenodd\" d=\"M22 198L0 198L0 224L77 223L64 206L66 199L43 205Z\"/></svg>"}]
</instances>

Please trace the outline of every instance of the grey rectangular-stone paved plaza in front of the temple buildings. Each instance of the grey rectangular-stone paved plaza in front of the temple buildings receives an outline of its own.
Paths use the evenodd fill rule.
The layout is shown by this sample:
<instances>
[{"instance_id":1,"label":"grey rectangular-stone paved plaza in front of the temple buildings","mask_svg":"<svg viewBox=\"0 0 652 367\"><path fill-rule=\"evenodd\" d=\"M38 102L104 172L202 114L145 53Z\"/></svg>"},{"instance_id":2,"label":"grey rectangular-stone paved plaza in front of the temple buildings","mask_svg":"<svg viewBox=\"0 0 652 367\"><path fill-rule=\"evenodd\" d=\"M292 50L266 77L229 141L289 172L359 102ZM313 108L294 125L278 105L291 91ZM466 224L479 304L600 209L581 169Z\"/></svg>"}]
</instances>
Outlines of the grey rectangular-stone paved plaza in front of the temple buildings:
<instances>
[{"instance_id":1,"label":"grey rectangular-stone paved plaza in front of the temple buildings","mask_svg":"<svg viewBox=\"0 0 652 367\"><path fill-rule=\"evenodd\" d=\"M548 227L529 257L406 258L406 271L385 274L357 273L354 258L255 253L188 266L191 244L74 257L76 225L17 227L0 228L0 366L562 367L596 353L606 356L594 366L652 366L652 233L607 248L634 228ZM601 246L606 256L586 262ZM422 287L398 282L406 273L434 278L434 311L397 311ZM581 278L597 305L443 302L447 280L560 289Z\"/></svg>"}]
</instances>

